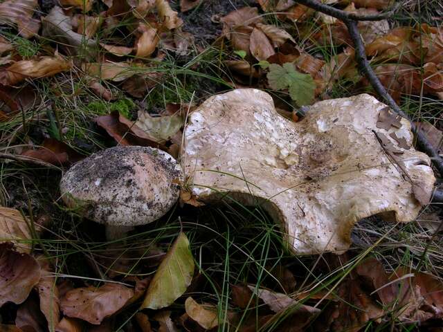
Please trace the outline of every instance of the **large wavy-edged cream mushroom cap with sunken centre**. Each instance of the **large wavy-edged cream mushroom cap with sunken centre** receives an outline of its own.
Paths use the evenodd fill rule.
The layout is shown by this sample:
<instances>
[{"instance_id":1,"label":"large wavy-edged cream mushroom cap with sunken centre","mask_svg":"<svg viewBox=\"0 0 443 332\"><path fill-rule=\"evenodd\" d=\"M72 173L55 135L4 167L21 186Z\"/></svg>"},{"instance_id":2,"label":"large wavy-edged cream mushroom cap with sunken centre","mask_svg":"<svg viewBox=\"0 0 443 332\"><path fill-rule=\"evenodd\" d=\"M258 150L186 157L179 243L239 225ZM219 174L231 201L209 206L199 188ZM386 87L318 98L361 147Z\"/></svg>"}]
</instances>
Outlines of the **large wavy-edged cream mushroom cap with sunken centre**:
<instances>
[{"instance_id":1,"label":"large wavy-edged cream mushroom cap with sunken centre","mask_svg":"<svg viewBox=\"0 0 443 332\"><path fill-rule=\"evenodd\" d=\"M413 221L417 198L431 196L430 160L411 146L409 122L390 125L383 112L385 104L363 94L317 102L291 122L262 91L216 95L190 116L185 174L201 201L230 192L262 204L296 253L345 250L359 219L393 212Z\"/></svg>"}]
</instances>

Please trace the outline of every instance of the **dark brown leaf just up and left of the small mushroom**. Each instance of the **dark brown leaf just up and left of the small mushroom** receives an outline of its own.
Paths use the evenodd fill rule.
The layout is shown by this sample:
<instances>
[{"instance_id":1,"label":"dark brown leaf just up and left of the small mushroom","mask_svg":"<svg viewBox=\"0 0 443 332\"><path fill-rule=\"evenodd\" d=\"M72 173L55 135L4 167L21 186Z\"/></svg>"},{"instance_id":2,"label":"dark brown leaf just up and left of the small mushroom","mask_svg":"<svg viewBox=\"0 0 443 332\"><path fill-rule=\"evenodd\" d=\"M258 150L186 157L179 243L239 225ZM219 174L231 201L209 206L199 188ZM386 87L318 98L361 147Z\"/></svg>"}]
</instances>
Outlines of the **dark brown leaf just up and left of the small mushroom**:
<instances>
[{"instance_id":1,"label":"dark brown leaf just up and left of the small mushroom","mask_svg":"<svg viewBox=\"0 0 443 332\"><path fill-rule=\"evenodd\" d=\"M69 145L54 138L45 138L41 147L28 149L22 152L21 156L42 160L55 166L75 163L82 159L82 156Z\"/></svg>"}]
</instances>

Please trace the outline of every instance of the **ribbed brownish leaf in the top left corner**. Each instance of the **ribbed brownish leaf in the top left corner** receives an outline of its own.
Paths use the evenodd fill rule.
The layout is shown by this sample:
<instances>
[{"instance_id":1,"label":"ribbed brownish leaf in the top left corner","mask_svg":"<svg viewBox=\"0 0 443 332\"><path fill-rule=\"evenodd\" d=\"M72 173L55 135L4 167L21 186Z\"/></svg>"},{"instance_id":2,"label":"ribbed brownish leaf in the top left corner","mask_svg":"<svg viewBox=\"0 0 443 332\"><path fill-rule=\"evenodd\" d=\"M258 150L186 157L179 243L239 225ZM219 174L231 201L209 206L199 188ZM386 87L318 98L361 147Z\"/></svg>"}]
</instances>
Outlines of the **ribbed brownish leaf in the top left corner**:
<instances>
[{"instance_id":1,"label":"ribbed brownish leaf in the top left corner","mask_svg":"<svg viewBox=\"0 0 443 332\"><path fill-rule=\"evenodd\" d=\"M40 21L33 19L37 6L37 0L4 1L0 3L0 24L17 25L22 37L33 37L40 28Z\"/></svg>"}]
</instances>

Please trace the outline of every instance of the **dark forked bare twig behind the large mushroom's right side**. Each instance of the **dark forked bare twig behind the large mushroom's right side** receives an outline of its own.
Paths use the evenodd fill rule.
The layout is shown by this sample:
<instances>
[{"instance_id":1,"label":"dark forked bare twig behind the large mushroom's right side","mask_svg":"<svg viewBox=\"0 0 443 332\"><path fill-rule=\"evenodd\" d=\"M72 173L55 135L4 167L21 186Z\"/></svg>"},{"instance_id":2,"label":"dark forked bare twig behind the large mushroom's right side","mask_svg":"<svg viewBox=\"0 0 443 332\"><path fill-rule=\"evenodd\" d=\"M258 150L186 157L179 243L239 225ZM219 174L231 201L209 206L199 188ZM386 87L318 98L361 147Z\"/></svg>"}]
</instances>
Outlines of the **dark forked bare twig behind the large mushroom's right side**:
<instances>
[{"instance_id":1,"label":"dark forked bare twig behind the large mushroom's right side","mask_svg":"<svg viewBox=\"0 0 443 332\"><path fill-rule=\"evenodd\" d=\"M327 6L316 0L297 0L297 2L314 10L318 10L319 12L323 12L326 15L335 17L336 19L340 19L341 21L343 21L344 24L346 24L352 42L354 43L355 60L359 66L359 70L368 78L368 81L374 88L375 92L377 92L379 97L384 102L386 102L393 111L395 111L403 118L409 120L411 127L416 134L418 146L422 149L422 151L424 151L426 154L428 154L428 156L431 157L433 165L440 173L440 175L443 176L443 158L427 140L426 136L424 136L424 133L422 133L422 131L420 131L417 126L415 126L414 122L410 120L406 113L404 113L404 111L400 109L400 107L397 105L397 102L395 102L388 91L386 91L383 84L381 84L379 77L377 77L376 73L370 66L368 57L366 56L365 46L363 45L363 40L361 39L359 28L357 27L358 21L379 21L381 19L386 19L390 17L395 12L395 10L397 10L397 7L388 12L383 12L379 15L362 16L348 13L343 10L333 8L331 6ZM434 194L434 201L436 201L436 199L439 197L443 197L443 194L436 191Z\"/></svg>"}]
</instances>

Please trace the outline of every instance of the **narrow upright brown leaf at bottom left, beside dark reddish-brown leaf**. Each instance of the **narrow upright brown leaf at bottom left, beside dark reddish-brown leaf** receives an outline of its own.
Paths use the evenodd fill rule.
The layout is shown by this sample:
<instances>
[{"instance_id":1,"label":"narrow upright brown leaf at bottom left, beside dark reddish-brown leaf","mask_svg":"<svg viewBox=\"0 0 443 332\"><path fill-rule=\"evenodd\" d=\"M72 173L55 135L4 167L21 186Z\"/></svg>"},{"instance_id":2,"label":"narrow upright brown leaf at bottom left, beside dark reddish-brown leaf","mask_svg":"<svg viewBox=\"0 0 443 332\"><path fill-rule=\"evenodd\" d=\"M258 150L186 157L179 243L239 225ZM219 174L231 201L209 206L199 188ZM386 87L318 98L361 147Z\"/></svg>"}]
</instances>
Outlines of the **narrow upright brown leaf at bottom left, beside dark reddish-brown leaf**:
<instances>
[{"instance_id":1,"label":"narrow upright brown leaf at bottom left, beside dark reddish-brown leaf","mask_svg":"<svg viewBox=\"0 0 443 332\"><path fill-rule=\"evenodd\" d=\"M37 259L41 276L36 288L39 293L40 310L46 317L48 328L50 331L55 329L60 321L60 300L58 288L55 285L55 276L51 274L51 266L45 257L41 256Z\"/></svg>"}]
</instances>

